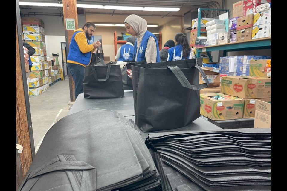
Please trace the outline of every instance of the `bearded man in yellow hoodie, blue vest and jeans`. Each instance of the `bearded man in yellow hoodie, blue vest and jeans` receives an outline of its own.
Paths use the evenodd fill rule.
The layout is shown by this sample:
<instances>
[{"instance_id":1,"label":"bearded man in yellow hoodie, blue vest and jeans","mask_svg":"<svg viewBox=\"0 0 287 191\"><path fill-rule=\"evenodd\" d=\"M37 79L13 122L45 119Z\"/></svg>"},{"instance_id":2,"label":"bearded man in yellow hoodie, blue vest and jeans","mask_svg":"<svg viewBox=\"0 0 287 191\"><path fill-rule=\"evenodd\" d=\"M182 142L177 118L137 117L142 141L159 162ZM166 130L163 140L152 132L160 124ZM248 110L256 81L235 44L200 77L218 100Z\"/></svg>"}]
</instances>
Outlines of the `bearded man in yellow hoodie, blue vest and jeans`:
<instances>
[{"instance_id":1,"label":"bearded man in yellow hoodie, blue vest and jeans","mask_svg":"<svg viewBox=\"0 0 287 191\"><path fill-rule=\"evenodd\" d=\"M83 93L83 80L85 76L85 67L90 64L92 53L96 47L100 47L100 41L90 43L91 37L95 32L95 24L87 22L82 28L74 30L70 42L69 53L67 57L67 66L75 82L75 98Z\"/></svg>"}]
</instances>

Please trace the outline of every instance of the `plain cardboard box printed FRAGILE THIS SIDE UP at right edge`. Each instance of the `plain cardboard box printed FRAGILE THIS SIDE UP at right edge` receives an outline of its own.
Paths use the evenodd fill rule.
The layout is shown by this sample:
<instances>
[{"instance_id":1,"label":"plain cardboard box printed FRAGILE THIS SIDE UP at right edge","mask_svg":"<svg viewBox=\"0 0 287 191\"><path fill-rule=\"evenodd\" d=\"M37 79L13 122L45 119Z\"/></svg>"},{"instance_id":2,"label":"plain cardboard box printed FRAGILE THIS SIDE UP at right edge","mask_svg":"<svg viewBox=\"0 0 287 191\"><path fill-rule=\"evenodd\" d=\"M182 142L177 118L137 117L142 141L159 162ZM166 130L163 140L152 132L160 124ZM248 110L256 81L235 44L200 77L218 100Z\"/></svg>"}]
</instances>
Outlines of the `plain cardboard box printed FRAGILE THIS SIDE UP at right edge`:
<instances>
[{"instance_id":1,"label":"plain cardboard box printed FRAGILE THIS SIDE UP at right edge","mask_svg":"<svg viewBox=\"0 0 287 191\"><path fill-rule=\"evenodd\" d=\"M271 101L255 101L254 128L271 128Z\"/></svg>"}]
</instances>

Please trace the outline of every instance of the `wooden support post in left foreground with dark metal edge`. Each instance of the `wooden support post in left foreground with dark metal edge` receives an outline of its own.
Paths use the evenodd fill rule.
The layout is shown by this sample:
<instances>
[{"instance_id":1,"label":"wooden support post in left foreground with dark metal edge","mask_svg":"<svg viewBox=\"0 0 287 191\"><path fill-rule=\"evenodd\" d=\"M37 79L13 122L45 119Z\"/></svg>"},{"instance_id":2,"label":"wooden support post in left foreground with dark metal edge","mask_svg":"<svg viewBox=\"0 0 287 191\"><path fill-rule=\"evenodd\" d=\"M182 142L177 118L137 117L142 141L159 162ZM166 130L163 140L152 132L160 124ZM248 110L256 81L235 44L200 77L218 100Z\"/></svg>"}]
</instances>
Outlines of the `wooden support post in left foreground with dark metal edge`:
<instances>
[{"instance_id":1,"label":"wooden support post in left foreground with dark metal edge","mask_svg":"<svg viewBox=\"0 0 287 191\"><path fill-rule=\"evenodd\" d=\"M20 153L20 161L23 177L25 177L33 157L35 156L35 145L32 131L18 0L16 0L16 136L18 144L24 147L23 152Z\"/></svg>"}]
</instances>

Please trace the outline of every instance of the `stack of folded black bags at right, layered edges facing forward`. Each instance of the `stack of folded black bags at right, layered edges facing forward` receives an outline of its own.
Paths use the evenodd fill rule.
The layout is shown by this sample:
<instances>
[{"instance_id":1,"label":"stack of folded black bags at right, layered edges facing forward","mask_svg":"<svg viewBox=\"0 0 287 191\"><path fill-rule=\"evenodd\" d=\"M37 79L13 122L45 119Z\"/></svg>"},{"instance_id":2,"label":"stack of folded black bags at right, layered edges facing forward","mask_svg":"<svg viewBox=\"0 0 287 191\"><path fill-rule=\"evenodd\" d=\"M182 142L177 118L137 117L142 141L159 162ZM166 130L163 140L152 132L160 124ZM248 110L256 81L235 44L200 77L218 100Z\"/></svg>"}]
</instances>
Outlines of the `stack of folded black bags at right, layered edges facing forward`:
<instances>
[{"instance_id":1,"label":"stack of folded black bags at right, layered edges facing forward","mask_svg":"<svg viewBox=\"0 0 287 191\"><path fill-rule=\"evenodd\" d=\"M149 133L164 191L271 190L271 129Z\"/></svg>"}]
</instances>

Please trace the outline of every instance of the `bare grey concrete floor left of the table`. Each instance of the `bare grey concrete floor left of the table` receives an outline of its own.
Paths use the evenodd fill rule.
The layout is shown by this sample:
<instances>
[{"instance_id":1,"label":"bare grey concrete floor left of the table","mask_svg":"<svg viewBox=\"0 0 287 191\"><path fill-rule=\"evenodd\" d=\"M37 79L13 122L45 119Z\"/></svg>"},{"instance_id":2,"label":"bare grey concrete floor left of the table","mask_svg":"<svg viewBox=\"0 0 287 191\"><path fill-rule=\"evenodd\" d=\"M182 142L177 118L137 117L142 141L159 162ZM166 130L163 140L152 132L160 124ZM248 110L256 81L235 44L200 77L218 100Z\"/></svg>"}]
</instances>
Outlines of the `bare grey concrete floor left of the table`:
<instances>
[{"instance_id":1,"label":"bare grey concrete floor left of the table","mask_svg":"<svg viewBox=\"0 0 287 191\"><path fill-rule=\"evenodd\" d=\"M69 78L60 80L39 96L29 96L32 128L37 153L47 131L68 114Z\"/></svg>"}]
</instances>

